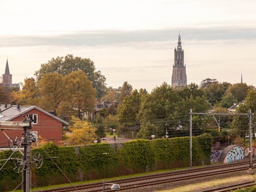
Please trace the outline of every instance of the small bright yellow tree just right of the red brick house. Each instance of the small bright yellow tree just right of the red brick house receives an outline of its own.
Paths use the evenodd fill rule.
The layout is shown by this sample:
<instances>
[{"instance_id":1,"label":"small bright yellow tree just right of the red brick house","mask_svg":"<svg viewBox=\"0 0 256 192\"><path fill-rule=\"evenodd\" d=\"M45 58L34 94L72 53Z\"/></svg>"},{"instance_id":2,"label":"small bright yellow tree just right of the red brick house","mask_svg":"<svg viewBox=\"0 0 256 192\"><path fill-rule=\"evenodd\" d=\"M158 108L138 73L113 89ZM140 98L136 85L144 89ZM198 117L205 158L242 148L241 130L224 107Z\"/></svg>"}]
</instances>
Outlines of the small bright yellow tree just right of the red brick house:
<instances>
[{"instance_id":1,"label":"small bright yellow tree just right of the red brick house","mask_svg":"<svg viewBox=\"0 0 256 192\"><path fill-rule=\"evenodd\" d=\"M71 134L66 135L65 143L68 143L68 145L86 145L95 140L96 128L75 116L72 116L68 129L71 132Z\"/></svg>"}]
</instances>

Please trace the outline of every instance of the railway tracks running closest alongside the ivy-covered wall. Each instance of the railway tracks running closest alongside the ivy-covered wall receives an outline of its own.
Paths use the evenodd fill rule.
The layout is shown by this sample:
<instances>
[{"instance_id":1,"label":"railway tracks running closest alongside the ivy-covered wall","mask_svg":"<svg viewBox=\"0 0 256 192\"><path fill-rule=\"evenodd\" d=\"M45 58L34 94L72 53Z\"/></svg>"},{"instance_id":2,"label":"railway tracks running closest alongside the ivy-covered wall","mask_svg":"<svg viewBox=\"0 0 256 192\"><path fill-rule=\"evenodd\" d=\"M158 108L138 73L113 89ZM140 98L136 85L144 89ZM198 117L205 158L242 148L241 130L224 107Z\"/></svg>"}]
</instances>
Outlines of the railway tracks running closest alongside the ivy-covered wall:
<instances>
[{"instance_id":1,"label":"railway tracks running closest alongside the ivy-covered wall","mask_svg":"<svg viewBox=\"0 0 256 192\"><path fill-rule=\"evenodd\" d=\"M139 188L156 186L161 184L172 184L174 182L182 182L190 179L210 177L212 175L221 175L225 173L239 172L243 170L248 170L248 162L205 166L202 168L188 168L186 170L157 173L157 174L146 175L141 177L132 177L129 179L110 180L108 182L119 184L121 188L120 191L126 191L126 190L139 189ZM93 184L70 186L67 188L47 189L47 190L44 190L44 192L60 192L60 191L61 192L66 192L66 191L79 191L79 192L80 191L83 191L83 192L99 191L100 192L102 191L102 186L103 186L102 182L97 182ZM226 191L228 187L225 188ZM105 191L111 191L110 186L106 186Z\"/></svg>"}]
</instances>

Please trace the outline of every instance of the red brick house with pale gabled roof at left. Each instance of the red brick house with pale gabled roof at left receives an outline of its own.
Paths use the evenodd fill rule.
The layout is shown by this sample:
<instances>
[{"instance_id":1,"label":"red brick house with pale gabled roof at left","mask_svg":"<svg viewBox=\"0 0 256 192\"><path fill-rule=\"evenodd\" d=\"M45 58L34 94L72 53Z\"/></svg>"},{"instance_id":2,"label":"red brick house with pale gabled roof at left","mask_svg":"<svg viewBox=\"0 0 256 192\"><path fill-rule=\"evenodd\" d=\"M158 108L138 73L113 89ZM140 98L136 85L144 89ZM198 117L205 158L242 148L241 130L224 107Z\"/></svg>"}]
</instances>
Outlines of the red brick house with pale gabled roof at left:
<instances>
[{"instance_id":1,"label":"red brick house with pale gabled roof at left","mask_svg":"<svg viewBox=\"0 0 256 192\"><path fill-rule=\"evenodd\" d=\"M57 116L44 111L36 106L0 106L0 122L22 122L22 115L33 115L33 127L31 132L36 132L44 141L53 141L61 145L62 129L68 123ZM0 126L0 128L18 128L20 131L4 130L9 138L19 136L22 138L22 127ZM0 131L0 147L8 147L9 139Z\"/></svg>"}]
</instances>

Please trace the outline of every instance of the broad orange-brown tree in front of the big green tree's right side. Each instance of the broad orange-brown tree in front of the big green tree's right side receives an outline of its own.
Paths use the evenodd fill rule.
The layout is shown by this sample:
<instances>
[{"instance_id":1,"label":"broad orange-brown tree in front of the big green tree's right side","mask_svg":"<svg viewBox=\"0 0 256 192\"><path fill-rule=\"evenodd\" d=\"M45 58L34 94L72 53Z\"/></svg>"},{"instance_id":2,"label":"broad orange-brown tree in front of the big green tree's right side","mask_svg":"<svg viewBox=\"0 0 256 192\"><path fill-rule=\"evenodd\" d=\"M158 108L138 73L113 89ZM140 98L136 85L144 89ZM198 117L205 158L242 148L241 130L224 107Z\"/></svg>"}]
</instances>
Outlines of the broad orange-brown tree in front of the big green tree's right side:
<instances>
[{"instance_id":1,"label":"broad orange-brown tree in front of the big green tree's right side","mask_svg":"<svg viewBox=\"0 0 256 192\"><path fill-rule=\"evenodd\" d=\"M63 78L63 99L57 113L73 115L74 111L81 118L83 112L93 112L95 109L95 89L88 81L83 71L75 71Z\"/></svg>"}]
</instances>

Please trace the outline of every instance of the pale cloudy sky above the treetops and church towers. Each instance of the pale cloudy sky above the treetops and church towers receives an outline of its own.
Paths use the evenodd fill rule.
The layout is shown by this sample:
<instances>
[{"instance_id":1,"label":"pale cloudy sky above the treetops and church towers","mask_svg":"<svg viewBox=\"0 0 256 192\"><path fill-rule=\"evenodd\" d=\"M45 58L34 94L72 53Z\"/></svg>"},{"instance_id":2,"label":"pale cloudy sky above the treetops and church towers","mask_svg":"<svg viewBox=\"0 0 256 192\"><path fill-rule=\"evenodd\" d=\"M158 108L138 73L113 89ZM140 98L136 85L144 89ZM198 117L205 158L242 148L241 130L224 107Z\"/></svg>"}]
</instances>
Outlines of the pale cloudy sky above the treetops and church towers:
<instances>
[{"instance_id":1,"label":"pale cloudy sky above the treetops and church towers","mask_svg":"<svg viewBox=\"0 0 256 192\"><path fill-rule=\"evenodd\" d=\"M0 73L12 83L41 64L90 58L107 86L148 92L171 84L181 36L188 84L207 78L256 86L256 1L0 0Z\"/></svg>"}]
</instances>

